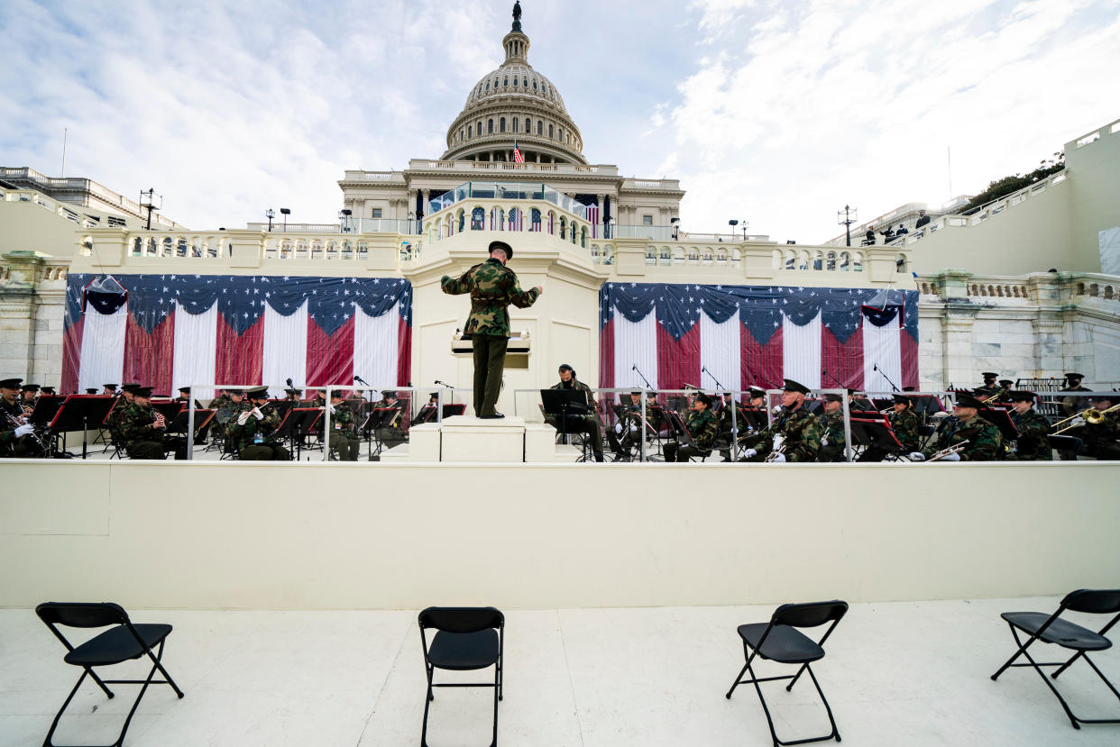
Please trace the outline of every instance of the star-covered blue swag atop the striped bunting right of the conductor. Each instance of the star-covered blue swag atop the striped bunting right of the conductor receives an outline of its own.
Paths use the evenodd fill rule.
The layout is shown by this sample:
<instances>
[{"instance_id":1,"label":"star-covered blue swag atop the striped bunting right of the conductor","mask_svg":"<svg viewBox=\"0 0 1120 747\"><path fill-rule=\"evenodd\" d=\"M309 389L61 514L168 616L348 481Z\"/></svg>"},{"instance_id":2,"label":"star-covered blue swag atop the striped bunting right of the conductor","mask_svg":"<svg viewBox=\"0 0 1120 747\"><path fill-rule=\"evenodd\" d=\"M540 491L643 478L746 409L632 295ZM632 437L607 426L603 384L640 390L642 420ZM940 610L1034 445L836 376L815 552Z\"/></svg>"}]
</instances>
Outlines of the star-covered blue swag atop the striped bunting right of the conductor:
<instances>
[{"instance_id":1,"label":"star-covered blue swag atop the striped bunting right of the conductor","mask_svg":"<svg viewBox=\"0 0 1120 747\"><path fill-rule=\"evenodd\" d=\"M599 291L599 328L615 314L637 323L652 311L680 339L700 321L701 314L717 324L738 315L750 335L765 345L781 328L783 315L804 326L820 314L821 324L844 343L864 319L884 326L902 314L900 326L916 339L917 302L915 290L608 282Z\"/></svg>"}]
</instances>

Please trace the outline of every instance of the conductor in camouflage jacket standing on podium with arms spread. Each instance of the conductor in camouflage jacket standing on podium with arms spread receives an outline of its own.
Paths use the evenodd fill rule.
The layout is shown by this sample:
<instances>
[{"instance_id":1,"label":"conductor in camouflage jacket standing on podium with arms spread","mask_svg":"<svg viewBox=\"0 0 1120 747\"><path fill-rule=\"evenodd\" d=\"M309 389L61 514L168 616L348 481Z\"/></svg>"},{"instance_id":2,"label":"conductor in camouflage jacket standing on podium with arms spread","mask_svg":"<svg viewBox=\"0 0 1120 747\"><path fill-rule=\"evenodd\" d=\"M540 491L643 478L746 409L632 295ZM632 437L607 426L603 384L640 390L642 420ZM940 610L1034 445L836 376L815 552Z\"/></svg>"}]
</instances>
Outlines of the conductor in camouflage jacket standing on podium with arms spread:
<instances>
[{"instance_id":1,"label":"conductor in camouflage jacket standing on podium with arms spread","mask_svg":"<svg viewBox=\"0 0 1120 747\"><path fill-rule=\"evenodd\" d=\"M506 267L511 259L513 248L504 241L493 241L488 260L470 268L458 279L449 276L440 279L445 293L470 293L470 316L463 336L474 343L474 404L478 418L505 417L494 405L502 391L505 349L510 344L510 305L519 309L529 308L544 292L540 286L521 290L517 276Z\"/></svg>"}]
</instances>

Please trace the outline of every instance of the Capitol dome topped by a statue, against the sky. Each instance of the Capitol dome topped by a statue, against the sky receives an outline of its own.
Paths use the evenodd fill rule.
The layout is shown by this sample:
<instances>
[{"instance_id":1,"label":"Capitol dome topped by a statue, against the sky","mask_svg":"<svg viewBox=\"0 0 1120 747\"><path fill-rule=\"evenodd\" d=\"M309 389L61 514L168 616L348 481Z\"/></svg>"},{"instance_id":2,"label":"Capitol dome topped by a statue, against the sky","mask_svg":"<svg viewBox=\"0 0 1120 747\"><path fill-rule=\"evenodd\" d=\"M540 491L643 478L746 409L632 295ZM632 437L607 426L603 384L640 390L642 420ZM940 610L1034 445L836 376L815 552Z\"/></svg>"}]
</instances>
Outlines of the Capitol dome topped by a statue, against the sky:
<instances>
[{"instance_id":1,"label":"Capitol dome topped by a statue, against the sky","mask_svg":"<svg viewBox=\"0 0 1120 747\"><path fill-rule=\"evenodd\" d=\"M513 161L514 144L531 164L580 164L584 139L552 81L529 64L529 37L521 29L521 3L513 29L502 39L505 62L467 94L447 130L441 160Z\"/></svg>"}]
</instances>

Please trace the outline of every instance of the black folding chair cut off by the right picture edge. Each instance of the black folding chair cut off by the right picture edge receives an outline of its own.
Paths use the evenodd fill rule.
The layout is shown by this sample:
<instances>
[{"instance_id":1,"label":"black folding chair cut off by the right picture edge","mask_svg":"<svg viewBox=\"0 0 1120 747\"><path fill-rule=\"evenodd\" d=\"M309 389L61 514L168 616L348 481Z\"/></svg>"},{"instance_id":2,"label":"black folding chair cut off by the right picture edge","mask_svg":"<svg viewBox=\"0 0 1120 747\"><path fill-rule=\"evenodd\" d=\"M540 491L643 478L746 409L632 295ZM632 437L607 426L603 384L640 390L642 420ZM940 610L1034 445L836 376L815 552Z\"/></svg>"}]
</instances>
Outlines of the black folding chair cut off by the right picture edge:
<instances>
[{"instance_id":1,"label":"black folding chair cut off by the right picture edge","mask_svg":"<svg viewBox=\"0 0 1120 747\"><path fill-rule=\"evenodd\" d=\"M1062 613L1066 609L1072 609L1075 613L1114 616L1104 627L1094 633L1076 623L1062 619ZM1096 669L1096 664L1089 659L1089 654L1086 653L1090 651L1104 651L1112 646L1112 642L1105 638L1104 634L1120 620L1120 589L1077 589L1076 591L1071 591L1065 595L1065 599L1062 600L1057 611L1053 615L1047 615L1046 613L1004 613L1000 617L1007 620L1008 626L1011 628L1011 635L1015 636L1015 642L1019 645L1019 648L1015 652L1014 656L1007 660L1006 664L999 667L998 672L991 675L993 681L1008 666L1033 666L1038 672L1038 676L1046 683L1046 687L1054 693L1054 697L1057 698L1057 701L1062 703L1062 708L1065 709L1065 715L1070 717L1070 722L1073 723L1074 729L1080 729L1082 723L1120 723L1120 719L1083 719L1074 716L1073 711L1066 704L1065 699L1062 698L1062 693L1046 679L1046 674L1042 670L1043 666L1057 666L1057 671L1051 674L1051 678L1056 680L1058 674L1068 669L1071 664L1079 659L1084 659L1085 663L1096 672L1096 676L1101 678L1101 681L1108 685L1112 694L1120 700L1120 692L1117 692L1117 689ZM1029 636L1025 643L1019 638L1019 631ZM1027 652L1027 647L1035 641L1053 643L1077 653L1065 662L1036 662ZM1020 655L1025 656L1028 663L1014 664L1012 662Z\"/></svg>"}]
</instances>

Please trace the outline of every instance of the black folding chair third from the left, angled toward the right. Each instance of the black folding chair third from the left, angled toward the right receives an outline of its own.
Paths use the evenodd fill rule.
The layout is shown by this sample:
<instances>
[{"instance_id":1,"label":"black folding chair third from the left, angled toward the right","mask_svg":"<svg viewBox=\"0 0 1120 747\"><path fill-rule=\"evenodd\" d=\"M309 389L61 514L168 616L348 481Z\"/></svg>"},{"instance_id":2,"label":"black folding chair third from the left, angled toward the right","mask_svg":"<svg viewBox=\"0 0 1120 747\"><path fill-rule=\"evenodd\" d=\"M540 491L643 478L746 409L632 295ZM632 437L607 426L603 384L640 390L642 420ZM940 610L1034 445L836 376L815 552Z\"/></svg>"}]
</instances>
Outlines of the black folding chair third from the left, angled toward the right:
<instances>
[{"instance_id":1,"label":"black folding chair third from the left, angled toward the right","mask_svg":"<svg viewBox=\"0 0 1120 747\"><path fill-rule=\"evenodd\" d=\"M832 709L829 708L829 701L824 698L824 692L821 690L821 685L816 681L816 675L813 674L813 670L809 664L824 657L824 648L822 646L828 637L832 635L832 631L836 629L840 618L847 611L848 603L840 600L782 605L774 610L769 623L752 623L738 627L739 637L743 638L743 656L747 660L747 663L739 670L739 674L735 678L735 683L727 691L727 698L730 700L731 693L740 684L754 683L755 690L758 692L758 700L763 704L763 712L766 713L766 722L769 723L771 737L774 739L775 746L803 745L809 741L825 741L828 739L840 741L840 731L837 729L836 719L832 718ZM832 625L824 632L821 639L816 642L796 629L800 627L816 627L825 623L832 623ZM762 656L763 659L781 664L801 664L801 669L797 670L796 674L759 678L755 674L755 670L750 665L755 656ZM743 675L748 671L750 672L750 679L744 680ZM774 719L771 718L769 708L766 707L766 699L763 698L763 690L758 687L758 683L791 680L790 684L785 687L786 692L788 692L793 690L793 685L796 684L797 678L801 676L802 672L809 672L810 679L812 679L813 684L816 687L821 702L824 703L824 710L828 711L829 722L832 723L832 731L823 737L782 741L777 738L777 732L774 731Z\"/></svg>"}]
</instances>

